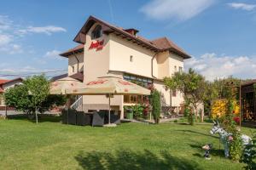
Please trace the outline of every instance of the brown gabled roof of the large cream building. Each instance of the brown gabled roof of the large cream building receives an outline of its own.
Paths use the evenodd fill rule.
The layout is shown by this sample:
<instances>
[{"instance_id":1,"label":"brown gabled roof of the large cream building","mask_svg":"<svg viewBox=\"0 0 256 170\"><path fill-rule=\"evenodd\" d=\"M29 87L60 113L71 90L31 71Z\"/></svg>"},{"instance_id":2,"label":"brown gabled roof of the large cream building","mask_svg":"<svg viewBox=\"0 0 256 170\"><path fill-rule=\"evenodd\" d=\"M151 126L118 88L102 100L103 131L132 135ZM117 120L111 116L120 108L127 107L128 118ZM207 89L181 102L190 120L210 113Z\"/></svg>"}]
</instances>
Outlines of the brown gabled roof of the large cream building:
<instances>
[{"instance_id":1,"label":"brown gabled roof of the large cream building","mask_svg":"<svg viewBox=\"0 0 256 170\"><path fill-rule=\"evenodd\" d=\"M84 51L83 44L86 42L85 35L87 31L90 30L90 27L93 26L93 24L95 24L96 22L102 25L102 31L106 34L114 33L117 36L126 38L128 41L137 43L138 45L143 45L143 47L153 50L154 52L162 52L162 51L169 50L169 51L172 51L173 53L176 53L182 56L183 59L191 58L189 54L186 54L182 48L179 48L174 42L172 42L166 37L161 37L153 41L149 41L144 37L139 37L131 33L131 32L137 33L137 30L134 28L125 30L121 27L113 26L103 20L99 20L94 16L90 16L88 18L88 20L85 22L84 26L81 28L77 36L73 39L74 42L79 42L82 44L75 48L67 50L67 52L62 53L61 56L67 57L68 55L73 53L83 52Z\"/></svg>"}]
</instances>

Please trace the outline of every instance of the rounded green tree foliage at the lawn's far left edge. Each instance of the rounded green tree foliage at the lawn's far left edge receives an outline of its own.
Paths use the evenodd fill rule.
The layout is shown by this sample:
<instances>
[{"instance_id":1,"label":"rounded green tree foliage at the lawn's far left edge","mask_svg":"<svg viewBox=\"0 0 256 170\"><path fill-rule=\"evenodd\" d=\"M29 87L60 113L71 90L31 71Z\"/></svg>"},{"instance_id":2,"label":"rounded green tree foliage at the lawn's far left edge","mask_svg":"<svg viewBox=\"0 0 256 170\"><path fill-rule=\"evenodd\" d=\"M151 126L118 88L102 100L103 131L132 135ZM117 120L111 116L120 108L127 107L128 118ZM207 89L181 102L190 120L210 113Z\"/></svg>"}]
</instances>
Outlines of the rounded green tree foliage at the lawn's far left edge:
<instances>
[{"instance_id":1,"label":"rounded green tree foliage at the lawn's far left edge","mask_svg":"<svg viewBox=\"0 0 256 170\"><path fill-rule=\"evenodd\" d=\"M15 107L16 111L35 113L49 95L49 82L42 76L27 78L23 84L9 88L4 94L6 105Z\"/></svg>"}]
</instances>

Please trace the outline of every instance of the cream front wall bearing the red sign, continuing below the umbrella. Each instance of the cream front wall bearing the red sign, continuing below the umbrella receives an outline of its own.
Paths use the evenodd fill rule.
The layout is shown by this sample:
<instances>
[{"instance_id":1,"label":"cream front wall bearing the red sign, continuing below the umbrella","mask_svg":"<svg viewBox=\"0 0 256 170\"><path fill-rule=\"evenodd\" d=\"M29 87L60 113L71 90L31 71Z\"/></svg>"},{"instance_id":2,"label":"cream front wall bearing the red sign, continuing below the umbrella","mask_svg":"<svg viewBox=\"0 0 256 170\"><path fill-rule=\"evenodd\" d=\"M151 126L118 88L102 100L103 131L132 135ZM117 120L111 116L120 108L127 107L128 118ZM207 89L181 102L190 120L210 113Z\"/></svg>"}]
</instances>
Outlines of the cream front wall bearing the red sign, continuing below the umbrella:
<instances>
[{"instance_id":1,"label":"cream front wall bearing the red sign, continuing below the umbrella","mask_svg":"<svg viewBox=\"0 0 256 170\"><path fill-rule=\"evenodd\" d=\"M102 37L91 40L90 34L94 30L95 26L90 28L86 35L86 43L84 44L84 83L95 80L97 77L106 76L119 76L120 75L109 73L109 55L110 55L110 41L106 34ZM103 48L101 50L96 50L96 48L90 48L91 42L96 42L96 40L104 40ZM122 110L123 96L114 96L111 99L111 105L119 110ZM84 95L83 98L84 109L108 109L108 98L105 95Z\"/></svg>"}]
</instances>

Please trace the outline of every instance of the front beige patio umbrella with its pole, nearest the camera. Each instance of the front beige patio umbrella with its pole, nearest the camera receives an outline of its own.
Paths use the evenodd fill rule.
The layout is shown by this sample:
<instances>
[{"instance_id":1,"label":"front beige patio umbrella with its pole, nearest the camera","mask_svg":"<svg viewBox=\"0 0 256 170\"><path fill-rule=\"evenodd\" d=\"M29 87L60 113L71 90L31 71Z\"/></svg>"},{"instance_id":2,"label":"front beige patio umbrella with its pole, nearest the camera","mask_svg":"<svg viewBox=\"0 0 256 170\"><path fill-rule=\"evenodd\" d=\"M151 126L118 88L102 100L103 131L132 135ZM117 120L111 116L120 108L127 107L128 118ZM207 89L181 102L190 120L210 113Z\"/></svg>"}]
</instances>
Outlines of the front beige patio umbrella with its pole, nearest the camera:
<instances>
[{"instance_id":1,"label":"front beige patio umbrella with its pole, nearest the camera","mask_svg":"<svg viewBox=\"0 0 256 170\"><path fill-rule=\"evenodd\" d=\"M108 94L108 124L110 124L111 95L142 94L149 95L150 90L128 82L119 77L98 77L95 81L87 82L83 88L67 89L67 94L105 95Z\"/></svg>"}]
</instances>

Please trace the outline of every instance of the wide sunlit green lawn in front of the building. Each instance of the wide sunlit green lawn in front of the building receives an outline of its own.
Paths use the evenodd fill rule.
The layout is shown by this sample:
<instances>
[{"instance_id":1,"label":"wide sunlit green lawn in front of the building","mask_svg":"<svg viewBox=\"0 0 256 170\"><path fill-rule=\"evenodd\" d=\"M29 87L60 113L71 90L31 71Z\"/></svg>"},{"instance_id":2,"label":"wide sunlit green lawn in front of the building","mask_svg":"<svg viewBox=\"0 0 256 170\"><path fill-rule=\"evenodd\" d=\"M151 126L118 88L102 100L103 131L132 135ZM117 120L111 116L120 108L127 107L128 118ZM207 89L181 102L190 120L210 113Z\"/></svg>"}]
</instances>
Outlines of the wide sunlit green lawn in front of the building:
<instances>
[{"instance_id":1,"label":"wide sunlit green lawn in front of the building","mask_svg":"<svg viewBox=\"0 0 256 170\"><path fill-rule=\"evenodd\" d=\"M0 169L241 169L224 158L211 125L123 123L78 127L0 120ZM243 133L250 133L243 128ZM212 143L212 160L201 145Z\"/></svg>"}]
</instances>

